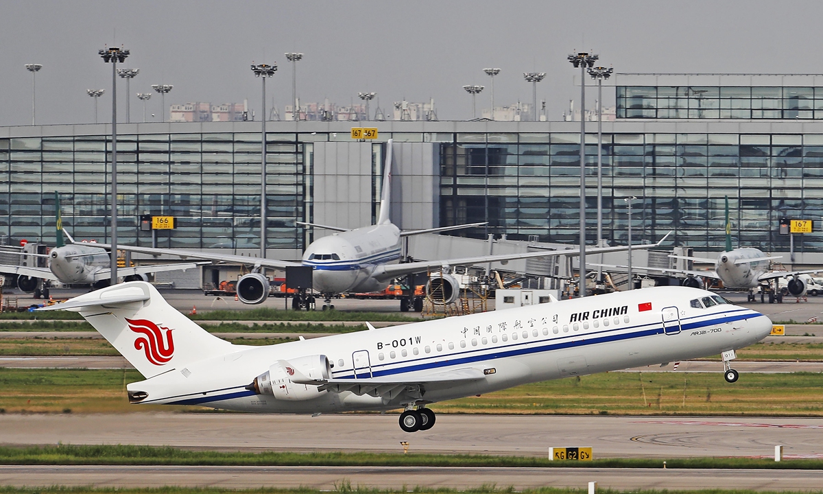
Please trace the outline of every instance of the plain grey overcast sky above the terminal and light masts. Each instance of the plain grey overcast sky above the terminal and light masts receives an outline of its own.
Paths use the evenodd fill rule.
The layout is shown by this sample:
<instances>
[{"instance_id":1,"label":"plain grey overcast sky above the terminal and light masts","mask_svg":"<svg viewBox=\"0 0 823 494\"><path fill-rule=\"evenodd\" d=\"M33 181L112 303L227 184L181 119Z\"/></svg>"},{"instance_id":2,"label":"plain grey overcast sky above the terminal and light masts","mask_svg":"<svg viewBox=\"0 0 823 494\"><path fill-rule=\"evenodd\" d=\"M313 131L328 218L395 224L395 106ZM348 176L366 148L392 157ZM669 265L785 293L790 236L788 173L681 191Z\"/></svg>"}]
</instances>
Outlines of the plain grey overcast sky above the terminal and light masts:
<instances>
[{"instance_id":1,"label":"plain grey overcast sky above the terminal and light masts","mask_svg":"<svg viewBox=\"0 0 823 494\"><path fill-rule=\"evenodd\" d=\"M267 94L282 114L291 100L287 51L305 54L297 65L304 102L328 97L345 105L358 91L375 91L384 109L431 97L439 119L468 119L472 100L463 85L486 86L478 113L488 108L482 69L495 67L497 105L530 102L523 72L547 72L537 98L556 120L578 97L578 72L565 60L574 49L593 49L616 72L821 73L821 18L816 1L0 0L0 125L31 121L26 63L43 64L37 123L93 121L91 88L106 90L99 111L109 119L111 68L97 55L104 44L124 44L132 55L123 67L140 68L133 121L142 119L134 93L160 83L174 85L167 106L248 98L259 113L252 61L279 66ZM160 119L159 95L148 113Z\"/></svg>"}]
</instances>

